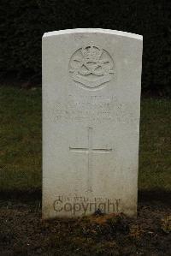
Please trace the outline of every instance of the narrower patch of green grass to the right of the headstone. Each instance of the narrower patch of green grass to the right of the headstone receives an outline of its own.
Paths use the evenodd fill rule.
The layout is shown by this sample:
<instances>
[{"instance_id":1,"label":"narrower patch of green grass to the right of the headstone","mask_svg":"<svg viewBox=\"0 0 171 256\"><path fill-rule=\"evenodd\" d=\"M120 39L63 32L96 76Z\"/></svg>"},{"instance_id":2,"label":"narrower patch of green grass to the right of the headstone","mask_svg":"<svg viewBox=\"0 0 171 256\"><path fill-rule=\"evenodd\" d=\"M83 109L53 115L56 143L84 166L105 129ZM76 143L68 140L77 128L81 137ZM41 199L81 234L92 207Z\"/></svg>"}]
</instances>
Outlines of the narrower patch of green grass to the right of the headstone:
<instances>
[{"instance_id":1,"label":"narrower patch of green grass to the right of the headstone","mask_svg":"<svg viewBox=\"0 0 171 256\"><path fill-rule=\"evenodd\" d=\"M171 101L142 100L139 190L171 191Z\"/></svg>"}]
</instances>

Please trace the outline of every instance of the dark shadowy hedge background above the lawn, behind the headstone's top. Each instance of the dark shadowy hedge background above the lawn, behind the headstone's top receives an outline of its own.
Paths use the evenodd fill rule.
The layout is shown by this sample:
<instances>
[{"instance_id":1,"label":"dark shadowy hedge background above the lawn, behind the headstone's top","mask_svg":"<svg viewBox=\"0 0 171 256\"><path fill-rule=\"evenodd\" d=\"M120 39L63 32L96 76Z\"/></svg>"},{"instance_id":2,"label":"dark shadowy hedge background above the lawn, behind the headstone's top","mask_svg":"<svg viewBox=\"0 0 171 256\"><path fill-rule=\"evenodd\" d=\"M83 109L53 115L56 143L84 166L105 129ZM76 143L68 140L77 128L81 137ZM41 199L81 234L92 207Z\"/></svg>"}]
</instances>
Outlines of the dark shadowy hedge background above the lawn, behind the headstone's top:
<instances>
[{"instance_id":1,"label":"dark shadowy hedge background above the lawn, behind the headstone's top","mask_svg":"<svg viewBox=\"0 0 171 256\"><path fill-rule=\"evenodd\" d=\"M44 32L102 27L144 36L144 93L171 96L171 1L13 0L1 3L1 78L41 83Z\"/></svg>"}]
</instances>

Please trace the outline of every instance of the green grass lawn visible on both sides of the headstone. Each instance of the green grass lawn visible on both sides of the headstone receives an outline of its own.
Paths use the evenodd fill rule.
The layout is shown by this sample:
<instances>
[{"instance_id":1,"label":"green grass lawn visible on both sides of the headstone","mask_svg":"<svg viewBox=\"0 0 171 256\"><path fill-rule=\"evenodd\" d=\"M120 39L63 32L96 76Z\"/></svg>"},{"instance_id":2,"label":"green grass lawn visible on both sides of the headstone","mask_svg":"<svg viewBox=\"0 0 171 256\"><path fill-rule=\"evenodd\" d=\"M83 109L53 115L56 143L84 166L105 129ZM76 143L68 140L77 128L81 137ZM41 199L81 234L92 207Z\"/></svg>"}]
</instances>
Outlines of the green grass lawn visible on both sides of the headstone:
<instances>
[{"instance_id":1,"label":"green grass lawn visible on both sides of the headstone","mask_svg":"<svg viewBox=\"0 0 171 256\"><path fill-rule=\"evenodd\" d=\"M0 190L41 189L41 88L0 86ZM141 103L139 190L171 191L171 102Z\"/></svg>"}]
</instances>

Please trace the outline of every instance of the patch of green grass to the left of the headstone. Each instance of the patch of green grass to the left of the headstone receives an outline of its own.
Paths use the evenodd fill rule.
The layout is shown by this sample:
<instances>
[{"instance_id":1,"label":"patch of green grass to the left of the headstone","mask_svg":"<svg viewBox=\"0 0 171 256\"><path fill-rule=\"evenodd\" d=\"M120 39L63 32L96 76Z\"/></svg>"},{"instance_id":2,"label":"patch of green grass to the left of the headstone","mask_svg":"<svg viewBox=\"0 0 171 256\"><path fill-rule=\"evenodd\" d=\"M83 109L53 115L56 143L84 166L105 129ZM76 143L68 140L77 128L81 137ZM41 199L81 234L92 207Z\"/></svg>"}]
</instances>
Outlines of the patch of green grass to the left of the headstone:
<instances>
[{"instance_id":1,"label":"patch of green grass to the left of the headstone","mask_svg":"<svg viewBox=\"0 0 171 256\"><path fill-rule=\"evenodd\" d=\"M41 89L0 87L0 189L41 187Z\"/></svg>"}]
</instances>

